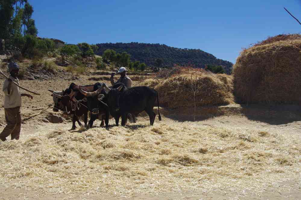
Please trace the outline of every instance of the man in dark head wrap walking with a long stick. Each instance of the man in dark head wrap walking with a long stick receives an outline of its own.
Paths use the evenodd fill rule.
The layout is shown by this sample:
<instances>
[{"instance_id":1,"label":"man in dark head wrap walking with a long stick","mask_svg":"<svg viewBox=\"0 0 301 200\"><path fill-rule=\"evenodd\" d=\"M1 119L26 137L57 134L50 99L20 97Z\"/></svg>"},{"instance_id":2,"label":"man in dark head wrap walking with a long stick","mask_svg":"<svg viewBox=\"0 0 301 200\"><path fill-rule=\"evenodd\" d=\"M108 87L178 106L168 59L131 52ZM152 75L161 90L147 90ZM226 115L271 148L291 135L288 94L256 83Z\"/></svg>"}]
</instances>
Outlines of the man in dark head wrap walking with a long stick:
<instances>
[{"instance_id":1,"label":"man in dark head wrap walking with a long stick","mask_svg":"<svg viewBox=\"0 0 301 200\"><path fill-rule=\"evenodd\" d=\"M7 125L0 133L0 139L6 141L6 137L11 135L11 140L18 140L20 137L21 130L21 116L20 116L20 107L21 107L21 96L27 96L28 98L33 99L29 94L20 93L20 88L13 84L12 81L20 85L19 79L17 78L19 73L19 65L17 63L10 63L8 65L8 71L10 76L3 83L4 92L4 112L5 120Z\"/></svg>"}]
</instances>

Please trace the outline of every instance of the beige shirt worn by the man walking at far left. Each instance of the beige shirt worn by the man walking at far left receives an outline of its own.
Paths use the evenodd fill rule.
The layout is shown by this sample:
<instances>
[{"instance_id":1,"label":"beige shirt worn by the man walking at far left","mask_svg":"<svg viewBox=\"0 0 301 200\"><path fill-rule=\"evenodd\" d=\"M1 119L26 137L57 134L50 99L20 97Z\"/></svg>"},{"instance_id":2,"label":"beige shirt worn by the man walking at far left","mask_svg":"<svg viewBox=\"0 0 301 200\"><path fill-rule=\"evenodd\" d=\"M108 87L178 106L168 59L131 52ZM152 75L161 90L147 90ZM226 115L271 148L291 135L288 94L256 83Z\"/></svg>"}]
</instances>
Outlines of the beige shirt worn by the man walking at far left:
<instances>
[{"instance_id":1,"label":"beige shirt worn by the man walking at far left","mask_svg":"<svg viewBox=\"0 0 301 200\"><path fill-rule=\"evenodd\" d=\"M18 78L13 78L10 76L11 80L13 80L15 83L19 83ZM8 83L9 81L6 79L3 82L3 89L4 92L4 108L15 108L15 107L21 107L21 92L20 88L16 86L14 83L11 83L11 92L8 94Z\"/></svg>"}]
</instances>

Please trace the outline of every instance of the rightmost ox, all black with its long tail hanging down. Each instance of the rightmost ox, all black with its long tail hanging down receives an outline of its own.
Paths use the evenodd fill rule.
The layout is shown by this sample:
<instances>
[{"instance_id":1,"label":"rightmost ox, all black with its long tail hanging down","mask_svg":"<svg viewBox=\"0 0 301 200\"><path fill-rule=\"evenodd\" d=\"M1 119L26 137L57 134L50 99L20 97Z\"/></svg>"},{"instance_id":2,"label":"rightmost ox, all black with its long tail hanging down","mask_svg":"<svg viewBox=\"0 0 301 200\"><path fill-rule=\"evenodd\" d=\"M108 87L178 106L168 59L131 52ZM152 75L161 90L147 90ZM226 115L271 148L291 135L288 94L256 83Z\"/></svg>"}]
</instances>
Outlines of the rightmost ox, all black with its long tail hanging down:
<instances>
[{"instance_id":1,"label":"rightmost ox, all black with its long tail hanging down","mask_svg":"<svg viewBox=\"0 0 301 200\"><path fill-rule=\"evenodd\" d=\"M156 114L153 111L155 101L158 102L159 120L161 121L159 109L158 92L147 86L137 86L125 89L121 92L122 85L116 89L110 89L104 84L105 90L108 92L108 106L110 112L115 114L116 125L118 125L121 116L121 126L125 126L129 113L139 114L145 111L149 115L150 125L154 124Z\"/></svg>"}]
</instances>

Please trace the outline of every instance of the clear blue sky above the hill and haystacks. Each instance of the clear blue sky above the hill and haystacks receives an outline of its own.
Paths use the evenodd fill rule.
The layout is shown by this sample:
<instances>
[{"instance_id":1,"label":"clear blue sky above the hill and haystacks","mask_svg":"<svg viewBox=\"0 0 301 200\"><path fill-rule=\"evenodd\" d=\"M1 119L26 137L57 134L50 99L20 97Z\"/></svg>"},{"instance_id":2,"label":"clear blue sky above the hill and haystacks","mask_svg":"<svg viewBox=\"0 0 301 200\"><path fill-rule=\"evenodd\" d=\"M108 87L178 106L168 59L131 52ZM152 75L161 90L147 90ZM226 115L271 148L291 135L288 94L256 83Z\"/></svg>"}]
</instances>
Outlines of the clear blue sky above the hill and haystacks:
<instances>
[{"instance_id":1,"label":"clear blue sky above the hill and haystacks","mask_svg":"<svg viewBox=\"0 0 301 200\"><path fill-rule=\"evenodd\" d=\"M41 1L38 36L70 44L159 43L201 49L235 63L242 48L268 36L299 33L301 1Z\"/></svg>"}]
</instances>

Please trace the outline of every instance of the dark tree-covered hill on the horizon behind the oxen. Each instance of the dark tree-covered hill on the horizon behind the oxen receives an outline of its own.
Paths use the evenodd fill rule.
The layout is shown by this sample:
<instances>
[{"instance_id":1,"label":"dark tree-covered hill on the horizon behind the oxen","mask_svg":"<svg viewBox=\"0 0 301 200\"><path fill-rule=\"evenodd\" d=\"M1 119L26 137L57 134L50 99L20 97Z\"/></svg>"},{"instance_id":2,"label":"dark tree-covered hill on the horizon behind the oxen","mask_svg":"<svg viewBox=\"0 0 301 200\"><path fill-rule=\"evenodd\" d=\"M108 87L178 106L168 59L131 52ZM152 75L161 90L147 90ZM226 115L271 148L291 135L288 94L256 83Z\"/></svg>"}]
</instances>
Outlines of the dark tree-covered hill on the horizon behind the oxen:
<instances>
[{"instance_id":1,"label":"dark tree-covered hill on the horizon behind the oxen","mask_svg":"<svg viewBox=\"0 0 301 200\"><path fill-rule=\"evenodd\" d=\"M178 65L193 65L195 67L204 68L205 65L221 65L227 73L232 69L232 63L217 59L210 53L199 49L180 49L169 47L165 44L146 44L146 43L102 43L96 44L98 51L97 55L102 55L106 49L113 49L117 53L127 52L131 55L131 61L138 60L145 62L146 65L155 65L155 60L161 58L163 65L172 67Z\"/></svg>"}]
</instances>

